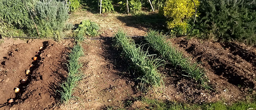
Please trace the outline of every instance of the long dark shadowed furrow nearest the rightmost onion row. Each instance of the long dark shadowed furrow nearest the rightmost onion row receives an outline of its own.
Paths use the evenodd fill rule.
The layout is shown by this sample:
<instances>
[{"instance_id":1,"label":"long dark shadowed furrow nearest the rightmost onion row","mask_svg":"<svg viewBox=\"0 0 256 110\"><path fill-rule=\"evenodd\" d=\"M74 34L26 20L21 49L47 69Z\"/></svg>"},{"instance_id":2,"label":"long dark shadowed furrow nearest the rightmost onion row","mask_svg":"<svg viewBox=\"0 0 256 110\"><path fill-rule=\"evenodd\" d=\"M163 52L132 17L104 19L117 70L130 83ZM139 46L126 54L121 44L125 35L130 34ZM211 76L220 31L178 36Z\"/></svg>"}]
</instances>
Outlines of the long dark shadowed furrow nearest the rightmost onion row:
<instances>
[{"instance_id":1,"label":"long dark shadowed furrow nearest the rightmost onion row","mask_svg":"<svg viewBox=\"0 0 256 110\"><path fill-rule=\"evenodd\" d=\"M181 43L185 45L185 48L187 48L185 51L195 56L194 58L196 58L198 61L202 62L202 59L207 59L206 62L208 65L210 65L211 69L214 71L214 74L225 77L229 83L235 86L240 85L241 87L255 87L255 84L252 82L252 80L248 79L248 77L245 77L244 75L241 75L243 73L239 71L240 68L236 68L232 64L227 63L225 59L219 58L218 55L205 52L197 44L188 44L188 41L181 41Z\"/></svg>"}]
</instances>

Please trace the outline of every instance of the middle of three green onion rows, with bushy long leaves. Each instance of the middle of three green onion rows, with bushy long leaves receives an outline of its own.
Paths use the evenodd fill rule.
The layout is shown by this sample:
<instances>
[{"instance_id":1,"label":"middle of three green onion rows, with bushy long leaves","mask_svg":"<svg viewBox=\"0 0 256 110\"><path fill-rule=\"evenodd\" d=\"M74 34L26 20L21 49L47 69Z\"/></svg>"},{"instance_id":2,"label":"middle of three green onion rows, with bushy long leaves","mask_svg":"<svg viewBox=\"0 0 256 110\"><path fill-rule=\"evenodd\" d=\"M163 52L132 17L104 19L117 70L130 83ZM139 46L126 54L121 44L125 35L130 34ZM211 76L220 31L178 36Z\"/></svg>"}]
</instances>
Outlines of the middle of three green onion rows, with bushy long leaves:
<instances>
[{"instance_id":1,"label":"middle of three green onion rows, with bushy long leaves","mask_svg":"<svg viewBox=\"0 0 256 110\"><path fill-rule=\"evenodd\" d=\"M122 30L114 35L113 40L117 49L122 50L122 55L129 62L130 68L134 72L134 76L143 85L147 87L160 87L163 84L162 76L157 71L157 67L161 66L161 61L153 59L153 55L142 50L143 46L135 45L132 39L129 39ZM138 46L138 48L136 47Z\"/></svg>"}]
</instances>

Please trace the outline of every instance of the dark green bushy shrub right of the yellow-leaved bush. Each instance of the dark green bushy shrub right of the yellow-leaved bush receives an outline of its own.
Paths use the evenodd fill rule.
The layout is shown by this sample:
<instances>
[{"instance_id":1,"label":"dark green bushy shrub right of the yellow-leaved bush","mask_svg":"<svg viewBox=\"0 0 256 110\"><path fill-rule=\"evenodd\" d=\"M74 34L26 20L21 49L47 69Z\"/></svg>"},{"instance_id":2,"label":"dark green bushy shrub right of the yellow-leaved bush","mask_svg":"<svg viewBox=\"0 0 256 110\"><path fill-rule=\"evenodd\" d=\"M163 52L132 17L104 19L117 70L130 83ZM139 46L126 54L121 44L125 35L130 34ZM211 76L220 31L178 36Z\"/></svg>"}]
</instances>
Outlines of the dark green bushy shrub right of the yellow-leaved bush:
<instances>
[{"instance_id":1,"label":"dark green bushy shrub right of the yellow-leaved bush","mask_svg":"<svg viewBox=\"0 0 256 110\"><path fill-rule=\"evenodd\" d=\"M242 0L202 0L199 28L207 37L256 45L256 7L249 4Z\"/></svg>"}]
</instances>

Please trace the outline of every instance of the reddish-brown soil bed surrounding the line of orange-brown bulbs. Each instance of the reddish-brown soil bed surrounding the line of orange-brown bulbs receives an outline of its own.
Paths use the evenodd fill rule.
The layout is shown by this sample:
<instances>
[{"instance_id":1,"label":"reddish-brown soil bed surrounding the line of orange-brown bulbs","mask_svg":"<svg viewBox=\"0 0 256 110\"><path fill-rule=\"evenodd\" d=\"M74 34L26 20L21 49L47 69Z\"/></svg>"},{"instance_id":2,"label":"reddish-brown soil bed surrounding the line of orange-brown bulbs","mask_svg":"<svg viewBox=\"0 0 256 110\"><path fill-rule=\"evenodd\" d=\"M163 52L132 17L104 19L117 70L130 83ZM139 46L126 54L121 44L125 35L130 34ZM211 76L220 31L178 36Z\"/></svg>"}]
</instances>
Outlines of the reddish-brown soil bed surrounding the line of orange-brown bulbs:
<instances>
[{"instance_id":1,"label":"reddish-brown soil bed surrounding the line of orange-brown bulbs","mask_svg":"<svg viewBox=\"0 0 256 110\"><path fill-rule=\"evenodd\" d=\"M8 54L4 55L0 65L1 110L43 110L56 103L56 87L67 75L64 62L69 43L30 39L27 43L7 46L10 47ZM37 54L40 46L43 49ZM34 56L38 60L33 61ZM29 67L30 64L33 67ZM27 69L31 75L25 74ZM20 83L22 79L27 80L25 84ZM20 88L19 93L14 92L15 87ZM9 99L14 99L14 103L7 103Z\"/></svg>"}]
</instances>

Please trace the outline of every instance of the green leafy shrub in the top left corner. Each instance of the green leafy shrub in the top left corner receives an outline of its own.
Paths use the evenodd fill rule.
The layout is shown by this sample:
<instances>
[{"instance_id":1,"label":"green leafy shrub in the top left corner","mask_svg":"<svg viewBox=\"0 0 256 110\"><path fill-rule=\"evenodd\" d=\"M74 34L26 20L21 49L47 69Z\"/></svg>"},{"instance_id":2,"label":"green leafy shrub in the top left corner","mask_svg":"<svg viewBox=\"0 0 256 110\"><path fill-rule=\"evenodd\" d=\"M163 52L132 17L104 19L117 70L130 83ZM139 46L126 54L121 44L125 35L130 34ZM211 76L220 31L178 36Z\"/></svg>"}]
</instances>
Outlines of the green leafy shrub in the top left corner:
<instances>
[{"instance_id":1,"label":"green leafy shrub in the top left corner","mask_svg":"<svg viewBox=\"0 0 256 110\"><path fill-rule=\"evenodd\" d=\"M31 28L32 20L26 6L33 7L33 0L0 0L0 36L23 35L22 28Z\"/></svg>"}]
</instances>

